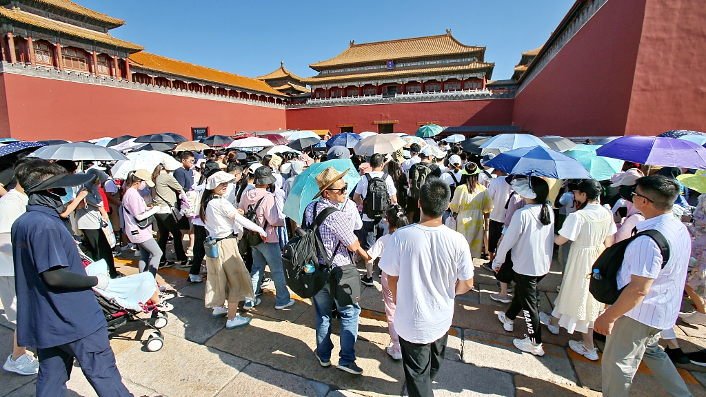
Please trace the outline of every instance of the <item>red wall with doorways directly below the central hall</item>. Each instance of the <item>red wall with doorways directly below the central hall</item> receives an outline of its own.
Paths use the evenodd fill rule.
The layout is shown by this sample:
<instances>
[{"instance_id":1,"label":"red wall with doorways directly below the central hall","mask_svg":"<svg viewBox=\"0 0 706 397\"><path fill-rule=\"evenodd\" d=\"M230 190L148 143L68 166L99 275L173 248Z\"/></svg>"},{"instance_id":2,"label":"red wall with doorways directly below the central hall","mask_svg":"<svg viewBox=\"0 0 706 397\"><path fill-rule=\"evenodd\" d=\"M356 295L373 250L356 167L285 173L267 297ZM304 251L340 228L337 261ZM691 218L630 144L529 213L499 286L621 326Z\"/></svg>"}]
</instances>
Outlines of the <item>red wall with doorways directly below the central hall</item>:
<instances>
[{"instance_id":1,"label":"red wall with doorways directly below the central hall","mask_svg":"<svg viewBox=\"0 0 706 397\"><path fill-rule=\"evenodd\" d=\"M288 129L329 129L355 124L353 131L378 132L375 121L397 120L395 132L413 134L420 122L443 126L509 126L513 122L513 99L407 102L287 109Z\"/></svg>"}]
</instances>

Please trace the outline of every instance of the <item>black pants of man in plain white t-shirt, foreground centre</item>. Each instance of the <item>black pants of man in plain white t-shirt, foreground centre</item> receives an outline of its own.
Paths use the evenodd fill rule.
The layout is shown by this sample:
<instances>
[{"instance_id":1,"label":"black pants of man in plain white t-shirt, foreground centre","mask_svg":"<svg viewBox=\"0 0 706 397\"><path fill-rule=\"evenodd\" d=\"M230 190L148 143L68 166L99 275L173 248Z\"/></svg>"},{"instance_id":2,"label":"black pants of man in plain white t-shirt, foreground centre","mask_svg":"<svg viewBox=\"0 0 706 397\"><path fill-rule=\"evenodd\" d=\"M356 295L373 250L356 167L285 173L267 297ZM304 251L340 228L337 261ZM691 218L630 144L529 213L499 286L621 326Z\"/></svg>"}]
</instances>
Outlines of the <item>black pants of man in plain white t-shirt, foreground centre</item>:
<instances>
[{"instance_id":1,"label":"black pants of man in plain white t-shirt, foreground centre","mask_svg":"<svg viewBox=\"0 0 706 397\"><path fill-rule=\"evenodd\" d=\"M434 397L431 383L441 367L448 333L432 343L407 342L400 336L402 367L405 368L409 397Z\"/></svg>"}]
</instances>

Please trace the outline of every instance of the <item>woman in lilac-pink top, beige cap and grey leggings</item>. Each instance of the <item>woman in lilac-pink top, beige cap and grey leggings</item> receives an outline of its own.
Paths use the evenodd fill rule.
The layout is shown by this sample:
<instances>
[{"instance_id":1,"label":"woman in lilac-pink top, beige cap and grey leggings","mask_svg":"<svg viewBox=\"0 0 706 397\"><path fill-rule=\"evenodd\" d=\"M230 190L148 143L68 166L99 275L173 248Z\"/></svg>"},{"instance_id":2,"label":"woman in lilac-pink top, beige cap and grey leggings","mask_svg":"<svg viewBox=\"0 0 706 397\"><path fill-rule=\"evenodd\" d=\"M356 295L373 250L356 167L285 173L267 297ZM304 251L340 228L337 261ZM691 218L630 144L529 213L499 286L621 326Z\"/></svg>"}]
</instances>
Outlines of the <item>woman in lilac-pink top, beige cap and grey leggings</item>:
<instances>
[{"instance_id":1,"label":"woman in lilac-pink top, beige cap and grey leggings","mask_svg":"<svg viewBox=\"0 0 706 397\"><path fill-rule=\"evenodd\" d=\"M157 268L159 268L160 258L162 258L162 249L155 241L155 237L152 237L152 223L144 225L142 221L155 215L162 207L155 205L148 210L145 199L140 194L140 191L155 186L155 183L152 182L152 177L148 170L136 170L128 174L123 186L125 192L123 194L122 211L125 234L128 240L136 244L138 249L140 249L140 261L138 261L140 272L150 271L152 275L157 275Z\"/></svg>"}]
</instances>

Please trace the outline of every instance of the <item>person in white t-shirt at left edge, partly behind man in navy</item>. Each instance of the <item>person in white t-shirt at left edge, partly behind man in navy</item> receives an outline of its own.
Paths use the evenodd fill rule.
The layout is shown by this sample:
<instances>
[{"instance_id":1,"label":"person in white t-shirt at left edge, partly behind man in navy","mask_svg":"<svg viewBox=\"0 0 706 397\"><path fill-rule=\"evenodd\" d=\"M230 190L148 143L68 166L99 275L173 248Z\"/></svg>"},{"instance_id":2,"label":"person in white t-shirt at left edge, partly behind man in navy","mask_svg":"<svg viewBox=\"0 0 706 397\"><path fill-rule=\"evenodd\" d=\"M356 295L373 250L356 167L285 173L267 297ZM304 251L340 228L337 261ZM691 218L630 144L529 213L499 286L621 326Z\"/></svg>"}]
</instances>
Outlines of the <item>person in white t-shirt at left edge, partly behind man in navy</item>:
<instances>
[{"instance_id":1,"label":"person in white t-shirt at left edge, partly behind man in navy","mask_svg":"<svg viewBox=\"0 0 706 397\"><path fill-rule=\"evenodd\" d=\"M33 160L20 161L16 165L16 172L26 171L28 166L31 167L32 162L36 162ZM28 197L20 184L0 198L0 302L5 309L7 319L12 322L17 321L17 295L10 233L15 220L25 213L27 202ZM34 375L39 371L39 362L28 355L25 348L17 345L17 331L15 331L12 354L5 360L3 368L20 375Z\"/></svg>"}]
</instances>

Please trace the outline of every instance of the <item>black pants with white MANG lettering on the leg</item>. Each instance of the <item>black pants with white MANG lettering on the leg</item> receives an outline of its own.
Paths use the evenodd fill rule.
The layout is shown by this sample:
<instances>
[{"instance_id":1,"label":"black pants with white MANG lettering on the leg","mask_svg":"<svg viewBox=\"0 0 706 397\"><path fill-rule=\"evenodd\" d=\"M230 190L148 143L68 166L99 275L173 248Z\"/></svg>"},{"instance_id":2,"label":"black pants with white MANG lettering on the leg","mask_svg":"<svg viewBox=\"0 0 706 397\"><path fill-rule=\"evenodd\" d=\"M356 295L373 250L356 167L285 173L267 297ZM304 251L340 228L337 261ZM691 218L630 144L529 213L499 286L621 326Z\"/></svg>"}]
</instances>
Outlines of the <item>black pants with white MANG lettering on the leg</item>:
<instances>
[{"instance_id":1,"label":"black pants with white MANG lettering on the leg","mask_svg":"<svg viewBox=\"0 0 706 397\"><path fill-rule=\"evenodd\" d=\"M542 343L542 326L539 324L539 302L537 302L537 284L544 275L524 275L515 273L515 297L505 316L514 320L517 314L525 317L527 336L532 343Z\"/></svg>"}]
</instances>

